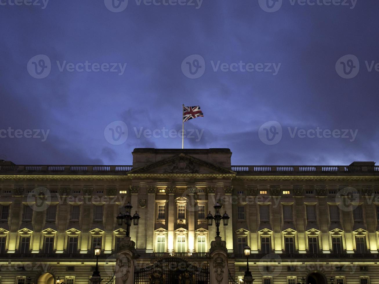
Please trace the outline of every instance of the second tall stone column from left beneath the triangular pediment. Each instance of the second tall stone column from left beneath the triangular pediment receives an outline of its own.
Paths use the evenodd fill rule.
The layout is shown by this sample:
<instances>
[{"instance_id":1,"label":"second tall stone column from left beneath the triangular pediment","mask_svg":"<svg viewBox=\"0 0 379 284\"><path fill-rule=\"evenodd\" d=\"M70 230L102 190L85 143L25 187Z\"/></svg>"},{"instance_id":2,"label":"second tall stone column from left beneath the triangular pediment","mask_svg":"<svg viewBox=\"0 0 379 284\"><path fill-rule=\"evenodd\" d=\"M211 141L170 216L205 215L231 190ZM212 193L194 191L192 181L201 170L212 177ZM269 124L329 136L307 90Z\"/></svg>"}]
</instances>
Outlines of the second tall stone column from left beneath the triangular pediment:
<instances>
[{"instance_id":1,"label":"second tall stone column from left beneath the triangular pediment","mask_svg":"<svg viewBox=\"0 0 379 284\"><path fill-rule=\"evenodd\" d=\"M146 252L154 252L154 222L155 222L155 193L157 186L146 186L147 210L146 214Z\"/></svg>"}]
</instances>

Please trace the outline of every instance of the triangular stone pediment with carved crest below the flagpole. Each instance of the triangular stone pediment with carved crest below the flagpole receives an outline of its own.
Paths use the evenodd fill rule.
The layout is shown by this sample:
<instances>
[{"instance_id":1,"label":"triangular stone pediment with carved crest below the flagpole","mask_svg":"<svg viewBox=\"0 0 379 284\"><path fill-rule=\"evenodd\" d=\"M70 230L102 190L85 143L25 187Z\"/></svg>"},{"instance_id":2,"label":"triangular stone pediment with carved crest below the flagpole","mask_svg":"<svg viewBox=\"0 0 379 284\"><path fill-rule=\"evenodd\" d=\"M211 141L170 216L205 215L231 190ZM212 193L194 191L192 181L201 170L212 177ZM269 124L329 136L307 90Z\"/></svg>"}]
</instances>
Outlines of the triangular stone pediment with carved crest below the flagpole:
<instances>
[{"instance_id":1,"label":"triangular stone pediment with carved crest below the flagpole","mask_svg":"<svg viewBox=\"0 0 379 284\"><path fill-rule=\"evenodd\" d=\"M188 156L186 154L175 155L168 159L139 167L128 172L128 175L235 175L230 169L220 167L210 162Z\"/></svg>"}]
</instances>

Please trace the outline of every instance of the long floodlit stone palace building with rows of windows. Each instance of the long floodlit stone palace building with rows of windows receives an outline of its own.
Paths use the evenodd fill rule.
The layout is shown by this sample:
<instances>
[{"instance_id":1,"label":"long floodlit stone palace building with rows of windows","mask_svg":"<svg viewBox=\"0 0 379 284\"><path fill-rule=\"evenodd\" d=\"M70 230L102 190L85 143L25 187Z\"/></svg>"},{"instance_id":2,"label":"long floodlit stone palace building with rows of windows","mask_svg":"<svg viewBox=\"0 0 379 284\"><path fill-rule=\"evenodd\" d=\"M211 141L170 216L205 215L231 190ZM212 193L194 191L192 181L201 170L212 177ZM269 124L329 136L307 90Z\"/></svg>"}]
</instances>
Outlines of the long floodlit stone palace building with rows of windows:
<instances>
[{"instance_id":1,"label":"long floodlit stone palace building with rows of windows","mask_svg":"<svg viewBox=\"0 0 379 284\"><path fill-rule=\"evenodd\" d=\"M0 284L55 284L58 277L88 284L97 245L103 282L113 283L114 255L127 233L116 217L128 202L131 215L140 217L130 226L139 284L151 278L138 273L169 257L207 271L216 236L207 215L215 214L217 202L230 217L219 226L229 283L243 278L249 245L254 284L379 284L374 162L231 165L227 148L136 148L132 154L133 165L1 160Z\"/></svg>"}]
</instances>

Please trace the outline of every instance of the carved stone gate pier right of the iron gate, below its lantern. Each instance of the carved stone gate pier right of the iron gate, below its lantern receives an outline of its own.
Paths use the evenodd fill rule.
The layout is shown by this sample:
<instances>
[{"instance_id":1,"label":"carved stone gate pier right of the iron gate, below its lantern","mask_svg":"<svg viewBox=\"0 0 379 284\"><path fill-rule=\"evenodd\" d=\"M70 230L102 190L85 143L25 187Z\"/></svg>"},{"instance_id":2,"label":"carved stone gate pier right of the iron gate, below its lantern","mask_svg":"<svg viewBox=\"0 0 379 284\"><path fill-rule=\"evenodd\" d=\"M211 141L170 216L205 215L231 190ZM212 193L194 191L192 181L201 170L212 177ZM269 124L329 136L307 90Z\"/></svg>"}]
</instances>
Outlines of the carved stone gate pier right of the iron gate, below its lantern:
<instances>
[{"instance_id":1,"label":"carved stone gate pier right of the iron gate, below its lantern","mask_svg":"<svg viewBox=\"0 0 379 284\"><path fill-rule=\"evenodd\" d=\"M210 283L228 284L229 283L228 254L226 250L226 242L224 240L221 240L221 237L215 237L215 240L211 242L209 256L210 256L210 265L209 265Z\"/></svg>"}]
</instances>

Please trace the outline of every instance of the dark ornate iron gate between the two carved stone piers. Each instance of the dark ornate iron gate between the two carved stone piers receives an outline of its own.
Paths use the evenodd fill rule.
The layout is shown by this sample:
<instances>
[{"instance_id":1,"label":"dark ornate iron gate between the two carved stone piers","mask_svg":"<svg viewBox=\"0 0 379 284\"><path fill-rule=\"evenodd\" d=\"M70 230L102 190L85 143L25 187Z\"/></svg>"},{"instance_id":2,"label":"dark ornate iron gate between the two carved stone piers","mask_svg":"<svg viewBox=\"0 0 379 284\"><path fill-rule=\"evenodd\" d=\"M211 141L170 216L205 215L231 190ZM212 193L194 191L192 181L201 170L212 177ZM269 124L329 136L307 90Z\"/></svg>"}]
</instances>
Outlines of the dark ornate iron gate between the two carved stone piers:
<instances>
[{"instance_id":1,"label":"dark ornate iron gate between the two carved stone piers","mask_svg":"<svg viewBox=\"0 0 379 284\"><path fill-rule=\"evenodd\" d=\"M135 284L209 284L209 267L164 257L147 267L136 267L134 276Z\"/></svg>"}]
</instances>

